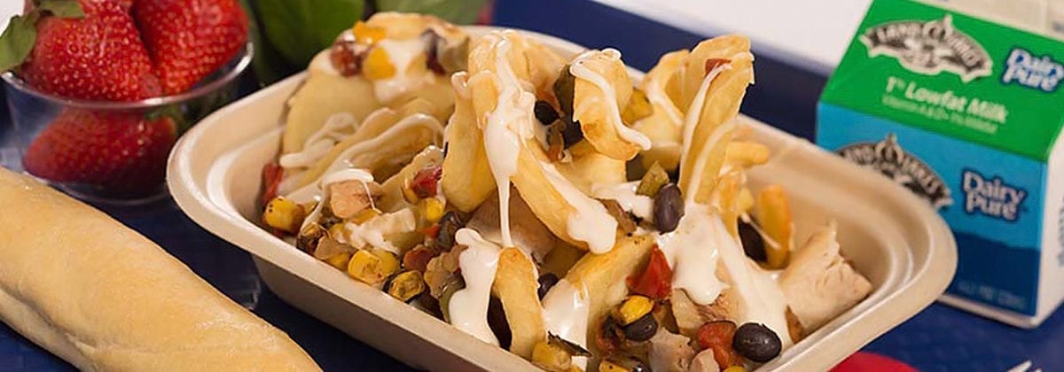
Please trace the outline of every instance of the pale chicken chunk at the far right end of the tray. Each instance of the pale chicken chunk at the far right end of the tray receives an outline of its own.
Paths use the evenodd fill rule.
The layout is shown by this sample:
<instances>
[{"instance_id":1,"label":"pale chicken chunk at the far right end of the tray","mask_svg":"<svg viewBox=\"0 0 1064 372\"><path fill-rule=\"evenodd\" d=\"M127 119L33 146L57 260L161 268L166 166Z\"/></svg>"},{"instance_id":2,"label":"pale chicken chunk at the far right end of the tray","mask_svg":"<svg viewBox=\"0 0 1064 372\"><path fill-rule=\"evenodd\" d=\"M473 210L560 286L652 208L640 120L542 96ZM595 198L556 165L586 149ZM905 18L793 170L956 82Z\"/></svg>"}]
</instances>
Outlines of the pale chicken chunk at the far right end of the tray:
<instances>
[{"instance_id":1,"label":"pale chicken chunk at the far right end of the tray","mask_svg":"<svg viewBox=\"0 0 1064 372\"><path fill-rule=\"evenodd\" d=\"M780 274L791 310L811 332L846 311L871 291L871 284L838 252L835 224L816 232Z\"/></svg>"}]
</instances>

